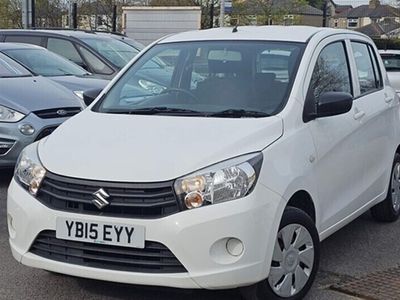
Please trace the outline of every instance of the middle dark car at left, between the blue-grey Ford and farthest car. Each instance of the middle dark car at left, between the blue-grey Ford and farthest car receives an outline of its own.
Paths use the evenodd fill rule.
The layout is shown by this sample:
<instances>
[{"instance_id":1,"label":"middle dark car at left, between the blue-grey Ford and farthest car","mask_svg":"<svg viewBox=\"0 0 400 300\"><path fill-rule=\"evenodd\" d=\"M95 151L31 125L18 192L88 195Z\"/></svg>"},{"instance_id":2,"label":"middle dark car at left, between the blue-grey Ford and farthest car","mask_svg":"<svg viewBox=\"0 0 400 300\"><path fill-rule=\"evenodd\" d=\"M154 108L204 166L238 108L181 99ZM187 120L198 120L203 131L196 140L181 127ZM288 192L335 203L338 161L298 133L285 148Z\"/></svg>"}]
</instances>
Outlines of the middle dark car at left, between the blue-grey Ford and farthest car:
<instances>
[{"instance_id":1,"label":"middle dark car at left, between the blue-grey Ford and farthest car","mask_svg":"<svg viewBox=\"0 0 400 300\"><path fill-rule=\"evenodd\" d=\"M47 77L65 86L81 99L85 91L103 89L109 82L93 78L85 69L39 46L0 43L0 52L16 60L33 74Z\"/></svg>"}]
</instances>

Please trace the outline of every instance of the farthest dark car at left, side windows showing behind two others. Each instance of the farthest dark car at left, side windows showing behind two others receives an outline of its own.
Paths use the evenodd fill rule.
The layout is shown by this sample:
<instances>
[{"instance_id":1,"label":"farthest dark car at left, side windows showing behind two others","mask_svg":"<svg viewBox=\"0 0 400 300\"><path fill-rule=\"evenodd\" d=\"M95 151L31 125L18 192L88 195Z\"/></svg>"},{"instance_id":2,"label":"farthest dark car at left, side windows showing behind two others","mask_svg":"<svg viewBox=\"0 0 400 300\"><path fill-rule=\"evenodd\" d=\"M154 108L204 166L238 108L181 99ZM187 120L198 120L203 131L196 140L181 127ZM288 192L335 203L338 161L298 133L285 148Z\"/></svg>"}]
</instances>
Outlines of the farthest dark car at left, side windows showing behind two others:
<instances>
[{"instance_id":1,"label":"farthest dark car at left, side windows showing behind two others","mask_svg":"<svg viewBox=\"0 0 400 300\"><path fill-rule=\"evenodd\" d=\"M140 51L107 35L75 30L0 30L0 42L42 46L104 79L113 78Z\"/></svg>"}]
</instances>

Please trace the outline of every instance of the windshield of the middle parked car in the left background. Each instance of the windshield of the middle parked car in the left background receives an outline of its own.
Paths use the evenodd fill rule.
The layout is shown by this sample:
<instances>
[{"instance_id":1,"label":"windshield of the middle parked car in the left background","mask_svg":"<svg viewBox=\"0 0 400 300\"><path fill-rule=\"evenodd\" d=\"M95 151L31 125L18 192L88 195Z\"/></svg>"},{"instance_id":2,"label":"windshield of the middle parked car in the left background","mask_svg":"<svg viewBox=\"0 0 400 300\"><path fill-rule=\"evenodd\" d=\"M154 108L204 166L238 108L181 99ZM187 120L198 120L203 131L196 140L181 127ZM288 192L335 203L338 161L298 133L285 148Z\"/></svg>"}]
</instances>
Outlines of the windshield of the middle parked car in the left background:
<instances>
[{"instance_id":1,"label":"windshield of the middle parked car in the left background","mask_svg":"<svg viewBox=\"0 0 400 300\"><path fill-rule=\"evenodd\" d=\"M84 76L88 72L69 60L45 49L10 49L3 53L42 76Z\"/></svg>"}]
</instances>

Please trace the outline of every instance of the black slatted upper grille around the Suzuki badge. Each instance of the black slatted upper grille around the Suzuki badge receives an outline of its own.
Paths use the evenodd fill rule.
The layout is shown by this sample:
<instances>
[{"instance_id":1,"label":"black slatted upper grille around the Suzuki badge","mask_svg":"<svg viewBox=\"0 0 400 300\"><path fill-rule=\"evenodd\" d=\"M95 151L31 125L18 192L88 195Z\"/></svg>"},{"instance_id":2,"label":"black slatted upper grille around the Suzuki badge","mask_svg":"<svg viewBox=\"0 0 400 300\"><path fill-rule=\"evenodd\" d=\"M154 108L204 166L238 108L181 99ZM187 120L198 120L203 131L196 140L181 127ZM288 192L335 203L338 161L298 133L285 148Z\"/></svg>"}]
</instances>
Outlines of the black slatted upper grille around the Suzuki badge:
<instances>
[{"instance_id":1,"label":"black slatted upper grille around the Suzuki badge","mask_svg":"<svg viewBox=\"0 0 400 300\"><path fill-rule=\"evenodd\" d=\"M93 193L104 189L109 205L99 209ZM37 199L62 211L124 218L159 218L180 211L173 182L118 183L67 178L47 173Z\"/></svg>"}]
</instances>

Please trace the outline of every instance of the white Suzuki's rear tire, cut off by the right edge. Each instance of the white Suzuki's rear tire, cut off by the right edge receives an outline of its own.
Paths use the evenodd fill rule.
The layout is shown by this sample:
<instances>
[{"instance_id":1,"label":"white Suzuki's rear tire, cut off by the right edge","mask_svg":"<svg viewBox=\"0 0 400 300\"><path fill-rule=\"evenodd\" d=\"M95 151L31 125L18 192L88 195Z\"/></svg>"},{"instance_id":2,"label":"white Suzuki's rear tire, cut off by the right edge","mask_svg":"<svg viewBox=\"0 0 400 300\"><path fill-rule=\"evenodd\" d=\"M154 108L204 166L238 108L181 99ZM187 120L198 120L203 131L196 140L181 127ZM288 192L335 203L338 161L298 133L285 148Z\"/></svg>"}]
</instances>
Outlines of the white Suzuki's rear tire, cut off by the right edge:
<instances>
[{"instance_id":1,"label":"white Suzuki's rear tire, cut off by the right edge","mask_svg":"<svg viewBox=\"0 0 400 300\"><path fill-rule=\"evenodd\" d=\"M378 222L394 222L400 215L400 155L396 153L390 173L386 199L371 208L372 217Z\"/></svg>"}]
</instances>

